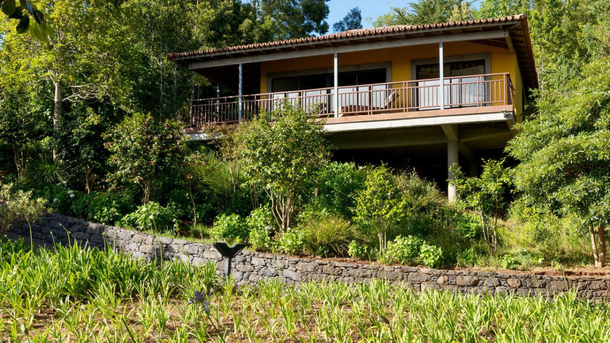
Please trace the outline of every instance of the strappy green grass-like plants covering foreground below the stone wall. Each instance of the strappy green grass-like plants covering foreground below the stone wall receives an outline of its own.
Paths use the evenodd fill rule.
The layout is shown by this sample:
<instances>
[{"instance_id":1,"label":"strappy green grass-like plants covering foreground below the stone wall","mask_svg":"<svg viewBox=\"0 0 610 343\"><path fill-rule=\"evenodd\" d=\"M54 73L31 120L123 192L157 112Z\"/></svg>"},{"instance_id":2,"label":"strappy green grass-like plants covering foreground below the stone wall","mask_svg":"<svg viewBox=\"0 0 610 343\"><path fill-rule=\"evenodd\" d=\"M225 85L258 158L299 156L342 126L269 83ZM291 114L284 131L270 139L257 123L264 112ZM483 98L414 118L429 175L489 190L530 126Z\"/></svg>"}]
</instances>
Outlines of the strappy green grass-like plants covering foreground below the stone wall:
<instances>
[{"instance_id":1,"label":"strappy green grass-like plants covering foreground below the stone wall","mask_svg":"<svg viewBox=\"0 0 610 343\"><path fill-rule=\"evenodd\" d=\"M6 342L601 342L610 308L565 294L416 293L383 281L232 286L214 264L0 242ZM212 289L209 311L187 305Z\"/></svg>"}]
</instances>

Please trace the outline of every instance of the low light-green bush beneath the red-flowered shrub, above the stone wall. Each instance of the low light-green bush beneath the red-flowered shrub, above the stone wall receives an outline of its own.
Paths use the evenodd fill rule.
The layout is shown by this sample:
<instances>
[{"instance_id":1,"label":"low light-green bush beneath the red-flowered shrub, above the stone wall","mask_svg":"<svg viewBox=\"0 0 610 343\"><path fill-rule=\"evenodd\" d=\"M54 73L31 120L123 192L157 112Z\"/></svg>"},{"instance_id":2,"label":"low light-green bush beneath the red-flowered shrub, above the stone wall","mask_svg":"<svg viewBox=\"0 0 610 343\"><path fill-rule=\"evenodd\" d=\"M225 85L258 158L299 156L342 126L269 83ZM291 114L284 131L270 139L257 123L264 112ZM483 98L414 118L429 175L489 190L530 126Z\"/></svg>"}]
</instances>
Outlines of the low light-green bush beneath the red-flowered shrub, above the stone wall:
<instances>
[{"instance_id":1,"label":"low light-green bush beneath the red-flowered shrub, above the stone wall","mask_svg":"<svg viewBox=\"0 0 610 343\"><path fill-rule=\"evenodd\" d=\"M163 207L151 201L125 215L119 225L139 230L171 231L178 228L178 211L172 204Z\"/></svg>"}]
</instances>

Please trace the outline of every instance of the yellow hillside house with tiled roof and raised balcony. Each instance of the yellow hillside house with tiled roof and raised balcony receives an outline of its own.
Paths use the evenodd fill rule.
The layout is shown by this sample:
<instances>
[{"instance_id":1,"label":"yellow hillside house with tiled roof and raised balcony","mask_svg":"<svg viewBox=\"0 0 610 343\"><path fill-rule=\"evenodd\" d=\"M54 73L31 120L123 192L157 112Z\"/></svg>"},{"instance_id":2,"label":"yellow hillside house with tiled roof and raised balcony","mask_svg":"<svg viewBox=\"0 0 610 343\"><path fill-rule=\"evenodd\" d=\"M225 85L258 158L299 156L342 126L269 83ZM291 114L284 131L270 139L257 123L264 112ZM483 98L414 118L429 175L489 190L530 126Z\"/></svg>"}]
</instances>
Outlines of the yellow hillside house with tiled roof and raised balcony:
<instances>
[{"instance_id":1,"label":"yellow hillside house with tiled roof and raised balcony","mask_svg":"<svg viewBox=\"0 0 610 343\"><path fill-rule=\"evenodd\" d=\"M448 166L476 173L482 156L501 151L538 85L525 15L167 57L234 94L192 100L192 140L209 139L206 125L240 123L289 101L325 118L339 158L398 159L444 182L450 199Z\"/></svg>"}]
</instances>

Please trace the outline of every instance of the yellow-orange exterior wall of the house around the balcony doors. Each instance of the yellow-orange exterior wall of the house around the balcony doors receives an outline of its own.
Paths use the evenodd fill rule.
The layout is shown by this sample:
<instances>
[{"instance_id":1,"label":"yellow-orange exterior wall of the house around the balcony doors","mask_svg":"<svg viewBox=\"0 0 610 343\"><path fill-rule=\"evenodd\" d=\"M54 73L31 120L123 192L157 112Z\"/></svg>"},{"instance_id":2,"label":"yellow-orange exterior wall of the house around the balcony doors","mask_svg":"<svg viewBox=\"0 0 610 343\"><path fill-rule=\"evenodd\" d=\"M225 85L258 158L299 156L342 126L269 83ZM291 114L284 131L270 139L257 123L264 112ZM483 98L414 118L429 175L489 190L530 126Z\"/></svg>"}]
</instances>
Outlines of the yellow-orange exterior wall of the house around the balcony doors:
<instances>
[{"instance_id":1,"label":"yellow-orange exterior wall of the house around the balcony doors","mask_svg":"<svg viewBox=\"0 0 610 343\"><path fill-rule=\"evenodd\" d=\"M515 114L521 117L523 104L522 79L517 57L508 49L495 48L470 42L451 42L443 45L445 57L490 53L491 73L509 73L515 88ZM431 59L439 56L439 45L407 46L371 51L345 52L339 54L339 67L369 63L392 63L392 82L411 81L411 60ZM314 56L298 59L274 60L260 63L260 93L267 93L267 74L287 71L332 68L333 56Z\"/></svg>"}]
</instances>

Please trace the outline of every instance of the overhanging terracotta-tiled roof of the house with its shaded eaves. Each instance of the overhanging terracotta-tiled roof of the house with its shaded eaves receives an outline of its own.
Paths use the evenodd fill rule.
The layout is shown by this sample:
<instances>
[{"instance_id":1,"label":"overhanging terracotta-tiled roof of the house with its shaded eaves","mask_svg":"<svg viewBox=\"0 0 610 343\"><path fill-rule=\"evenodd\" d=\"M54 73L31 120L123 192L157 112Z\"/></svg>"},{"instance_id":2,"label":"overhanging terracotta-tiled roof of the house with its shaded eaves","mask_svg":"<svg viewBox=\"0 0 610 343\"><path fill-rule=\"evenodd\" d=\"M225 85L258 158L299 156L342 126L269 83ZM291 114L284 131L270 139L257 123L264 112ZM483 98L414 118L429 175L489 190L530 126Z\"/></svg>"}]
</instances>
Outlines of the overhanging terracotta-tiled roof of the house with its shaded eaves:
<instances>
[{"instance_id":1,"label":"overhanging terracotta-tiled roof of the house with its shaded eaves","mask_svg":"<svg viewBox=\"0 0 610 343\"><path fill-rule=\"evenodd\" d=\"M319 37L307 37L204 51L168 53L167 57L197 73L239 63L370 51L439 42L476 42L514 51L526 90L538 87L525 15L429 25L373 27Z\"/></svg>"}]
</instances>

